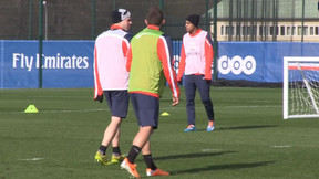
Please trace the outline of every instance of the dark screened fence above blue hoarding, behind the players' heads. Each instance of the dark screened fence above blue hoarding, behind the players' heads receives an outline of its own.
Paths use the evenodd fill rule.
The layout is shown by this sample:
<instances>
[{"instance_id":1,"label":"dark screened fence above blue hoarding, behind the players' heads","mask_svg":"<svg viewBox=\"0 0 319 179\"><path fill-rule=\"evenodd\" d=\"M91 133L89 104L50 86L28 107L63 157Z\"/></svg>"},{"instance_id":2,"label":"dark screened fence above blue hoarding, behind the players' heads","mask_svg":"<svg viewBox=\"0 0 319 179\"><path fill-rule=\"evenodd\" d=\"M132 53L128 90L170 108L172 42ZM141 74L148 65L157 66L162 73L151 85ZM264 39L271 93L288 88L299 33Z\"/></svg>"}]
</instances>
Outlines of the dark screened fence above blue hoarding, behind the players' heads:
<instances>
[{"instance_id":1,"label":"dark screened fence above blue hoarding, behind the players' heads","mask_svg":"<svg viewBox=\"0 0 319 179\"><path fill-rule=\"evenodd\" d=\"M218 0L220 1L220 0ZM39 39L39 2L41 0L0 0L0 39ZM163 9L166 24L163 31L173 39L185 33L189 13L206 14L214 0L43 0L44 40L94 40L111 25L111 12L125 8L132 12L133 33L145 28L150 6ZM209 21L200 20L209 30Z\"/></svg>"}]
</instances>

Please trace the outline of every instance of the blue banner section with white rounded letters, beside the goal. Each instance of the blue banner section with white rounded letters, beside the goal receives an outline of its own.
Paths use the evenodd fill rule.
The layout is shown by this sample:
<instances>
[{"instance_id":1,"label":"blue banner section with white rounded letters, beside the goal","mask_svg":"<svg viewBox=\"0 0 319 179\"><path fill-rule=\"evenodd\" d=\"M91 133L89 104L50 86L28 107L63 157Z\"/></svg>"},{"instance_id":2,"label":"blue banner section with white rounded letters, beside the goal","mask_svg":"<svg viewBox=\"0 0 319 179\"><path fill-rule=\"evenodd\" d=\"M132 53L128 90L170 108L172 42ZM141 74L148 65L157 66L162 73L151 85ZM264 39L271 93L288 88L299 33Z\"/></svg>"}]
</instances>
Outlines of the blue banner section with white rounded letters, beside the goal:
<instances>
[{"instance_id":1,"label":"blue banner section with white rounded letters, beside the goal","mask_svg":"<svg viewBox=\"0 0 319 179\"><path fill-rule=\"evenodd\" d=\"M219 42L218 78L281 83L284 56L319 56L319 43Z\"/></svg>"}]
</instances>

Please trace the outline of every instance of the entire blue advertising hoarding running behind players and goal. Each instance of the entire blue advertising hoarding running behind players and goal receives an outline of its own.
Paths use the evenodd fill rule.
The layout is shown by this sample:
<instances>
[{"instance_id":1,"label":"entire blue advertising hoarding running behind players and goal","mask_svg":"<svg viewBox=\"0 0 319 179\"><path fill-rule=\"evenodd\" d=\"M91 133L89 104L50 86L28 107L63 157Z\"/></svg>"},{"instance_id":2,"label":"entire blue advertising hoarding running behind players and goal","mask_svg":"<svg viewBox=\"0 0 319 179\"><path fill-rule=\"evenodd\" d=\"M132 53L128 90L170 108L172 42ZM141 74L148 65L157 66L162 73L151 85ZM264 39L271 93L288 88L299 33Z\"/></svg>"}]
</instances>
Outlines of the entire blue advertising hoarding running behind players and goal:
<instances>
[{"instance_id":1,"label":"entire blue advertising hoarding running behind players and goal","mask_svg":"<svg viewBox=\"0 0 319 179\"><path fill-rule=\"evenodd\" d=\"M173 41L178 71L182 41ZM93 87L94 41L43 41L42 87ZM319 43L218 42L217 76L281 83L284 56L319 56ZM39 42L0 40L0 88L39 87Z\"/></svg>"}]
</instances>

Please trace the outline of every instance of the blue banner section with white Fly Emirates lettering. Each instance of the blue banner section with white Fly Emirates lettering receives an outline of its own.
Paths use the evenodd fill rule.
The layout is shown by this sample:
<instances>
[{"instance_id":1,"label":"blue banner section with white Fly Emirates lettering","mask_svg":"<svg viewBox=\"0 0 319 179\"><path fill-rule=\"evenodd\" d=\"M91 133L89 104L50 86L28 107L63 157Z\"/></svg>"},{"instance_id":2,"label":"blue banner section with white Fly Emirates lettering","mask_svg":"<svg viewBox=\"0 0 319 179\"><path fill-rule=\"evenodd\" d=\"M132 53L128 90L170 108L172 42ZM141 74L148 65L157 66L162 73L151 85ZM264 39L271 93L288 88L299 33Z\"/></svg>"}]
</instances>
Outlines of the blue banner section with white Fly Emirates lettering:
<instances>
[{"instance_id":1,"label":"blue banner section with white Fly Emirates lettering","mask_svg":"<svg viewBox=\"0 0 319 179\"><path fill-rule=\"evenodd\" d=\"M42 87L92 87L93 41L43 41ZM38 41L1 42L1 88L39 87Z\"/></svg>"}]
</instances>

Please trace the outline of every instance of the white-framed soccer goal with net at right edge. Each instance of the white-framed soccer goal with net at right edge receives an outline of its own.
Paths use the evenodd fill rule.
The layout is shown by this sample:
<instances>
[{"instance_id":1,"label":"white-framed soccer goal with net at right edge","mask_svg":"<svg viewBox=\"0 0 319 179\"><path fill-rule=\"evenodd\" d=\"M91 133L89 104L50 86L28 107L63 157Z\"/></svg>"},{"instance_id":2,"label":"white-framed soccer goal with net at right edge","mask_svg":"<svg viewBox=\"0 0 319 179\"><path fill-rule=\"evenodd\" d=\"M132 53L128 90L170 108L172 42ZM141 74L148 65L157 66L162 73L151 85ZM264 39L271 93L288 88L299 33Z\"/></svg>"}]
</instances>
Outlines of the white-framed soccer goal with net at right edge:
<instances>
[{"instance_id":1,"label":"white-framed soccer goal with net at right edge","mask_svg":"<svg viewBox=\"0 0 319 179\"><path fill-rule=\"evenodd\" d=\"M319 117L319 56L284 57L284 119Z\"/></svg>"}]
</instances>

